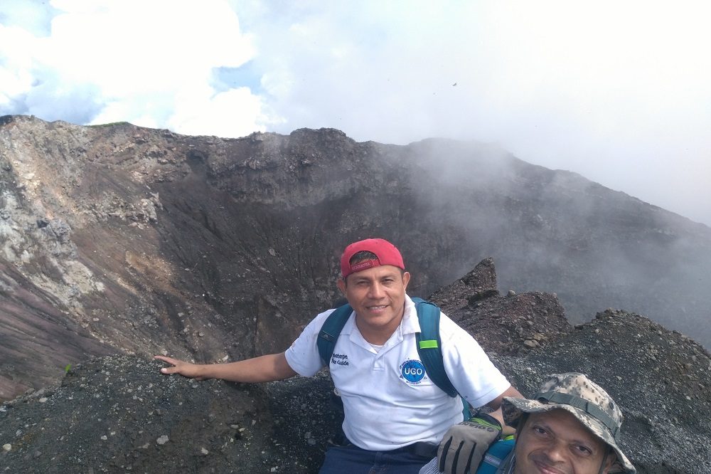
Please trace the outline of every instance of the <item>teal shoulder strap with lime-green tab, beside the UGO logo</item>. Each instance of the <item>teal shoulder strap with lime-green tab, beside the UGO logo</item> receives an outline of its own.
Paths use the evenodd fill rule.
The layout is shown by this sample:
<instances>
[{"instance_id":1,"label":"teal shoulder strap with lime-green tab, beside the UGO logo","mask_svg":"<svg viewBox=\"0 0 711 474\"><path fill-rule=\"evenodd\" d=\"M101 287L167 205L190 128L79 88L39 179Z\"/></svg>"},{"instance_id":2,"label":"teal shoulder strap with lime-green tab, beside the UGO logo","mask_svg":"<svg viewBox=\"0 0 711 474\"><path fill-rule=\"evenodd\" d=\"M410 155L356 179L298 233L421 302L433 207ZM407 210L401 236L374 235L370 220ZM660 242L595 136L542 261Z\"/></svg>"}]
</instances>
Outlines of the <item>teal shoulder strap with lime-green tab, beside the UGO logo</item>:
<instances>
[{"instance_id":1,"label":"teal shoulder strap with lime-green tab, beside the UGO logo","mask_svg":"<svg viewBox=\"0 0 711 474\"><path fill-rule=\"evenodd\" d=\"M442 391L449 396L457 396L454 385L449 381L447 372L444 372L442 360L442 341L439 339L439 307L434 303L412 298L417 308L420 332L417 333L417 353L422 360L427 376Z\"/></svg>"}]
</instances>

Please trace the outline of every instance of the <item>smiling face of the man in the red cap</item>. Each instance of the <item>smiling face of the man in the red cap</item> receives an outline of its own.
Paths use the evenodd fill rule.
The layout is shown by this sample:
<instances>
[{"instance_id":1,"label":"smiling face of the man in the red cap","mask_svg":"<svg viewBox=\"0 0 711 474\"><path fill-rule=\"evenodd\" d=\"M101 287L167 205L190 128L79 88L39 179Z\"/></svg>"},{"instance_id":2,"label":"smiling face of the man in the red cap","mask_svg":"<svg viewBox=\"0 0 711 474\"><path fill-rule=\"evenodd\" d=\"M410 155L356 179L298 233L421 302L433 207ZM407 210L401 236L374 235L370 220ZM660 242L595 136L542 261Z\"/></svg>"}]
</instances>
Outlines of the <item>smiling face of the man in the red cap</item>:
<instances>
[{"instance_id":1,"label":"smiling face of the man in the red cap","mask_svg":"<svg viewBox=\"0 0 711 474\"><path fill-rule=\"evenodd\" d=\"M385 344L405 312L405 290L410 273L393 265L379 265L338 280L338 288L355 310L355 322L366 341Z\"/></svg>"}]
</instances>

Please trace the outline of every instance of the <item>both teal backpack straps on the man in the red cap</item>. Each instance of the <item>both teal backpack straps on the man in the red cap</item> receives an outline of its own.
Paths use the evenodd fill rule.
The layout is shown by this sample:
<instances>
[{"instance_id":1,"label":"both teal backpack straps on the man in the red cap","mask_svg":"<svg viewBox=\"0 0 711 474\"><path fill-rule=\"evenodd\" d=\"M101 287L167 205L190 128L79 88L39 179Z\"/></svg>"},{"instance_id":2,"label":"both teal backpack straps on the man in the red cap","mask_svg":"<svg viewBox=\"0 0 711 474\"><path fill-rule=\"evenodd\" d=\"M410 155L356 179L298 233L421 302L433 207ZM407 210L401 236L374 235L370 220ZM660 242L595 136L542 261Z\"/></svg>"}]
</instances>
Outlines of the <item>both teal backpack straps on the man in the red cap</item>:
<instances>
[{"instance_id":1,"label":"both teal backpack straps on the man in the red cap","mask_svg":"<svg viewBox=\"0 0 711 474\"><path fill-rule=\"evenodd\" d=\"M441 340L439 339L439 307L434 303L422 300L422 298L412 298L417 308L417 319L419 328L417 337L417 353L424 365L424 370L432 382L449 396L457 396L454 385L449 381L447 372L444 372L444 362L442 361ZM329 365L333 349L336 347L338 336L341 335L343 326L346 325L348 317L351 317L353 308L350 305L338 307L326 318L326 322L321 326L319 337L316 339L316 346L319 348L319 355L324 364ZM464 409L469 406L465 400ZM466 416L466 414L465 414ZM469 419L468 417L465 419Z\"/></svg>"}]
</instances>

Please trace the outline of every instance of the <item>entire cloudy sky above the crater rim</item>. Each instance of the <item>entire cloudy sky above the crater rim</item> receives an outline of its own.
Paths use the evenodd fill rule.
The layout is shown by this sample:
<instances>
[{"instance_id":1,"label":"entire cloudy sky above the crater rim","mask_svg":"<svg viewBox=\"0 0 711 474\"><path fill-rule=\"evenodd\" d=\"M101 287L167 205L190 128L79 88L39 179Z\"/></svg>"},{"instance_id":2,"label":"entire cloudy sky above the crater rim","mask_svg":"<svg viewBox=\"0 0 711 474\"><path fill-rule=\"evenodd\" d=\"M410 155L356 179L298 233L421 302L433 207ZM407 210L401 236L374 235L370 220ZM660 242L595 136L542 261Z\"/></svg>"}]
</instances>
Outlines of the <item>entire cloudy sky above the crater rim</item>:
<instances>
[{"instance_id":1,"label":"entire cloudy sky above the crater rim","mask_svg":"<svg viewBox=\"0 0 711 474\"><path fill-rule=\"evenodd\" d=\"M0 115L494 142L711 226L711 2L0 0Z\"/></svg>"}]
</instances>

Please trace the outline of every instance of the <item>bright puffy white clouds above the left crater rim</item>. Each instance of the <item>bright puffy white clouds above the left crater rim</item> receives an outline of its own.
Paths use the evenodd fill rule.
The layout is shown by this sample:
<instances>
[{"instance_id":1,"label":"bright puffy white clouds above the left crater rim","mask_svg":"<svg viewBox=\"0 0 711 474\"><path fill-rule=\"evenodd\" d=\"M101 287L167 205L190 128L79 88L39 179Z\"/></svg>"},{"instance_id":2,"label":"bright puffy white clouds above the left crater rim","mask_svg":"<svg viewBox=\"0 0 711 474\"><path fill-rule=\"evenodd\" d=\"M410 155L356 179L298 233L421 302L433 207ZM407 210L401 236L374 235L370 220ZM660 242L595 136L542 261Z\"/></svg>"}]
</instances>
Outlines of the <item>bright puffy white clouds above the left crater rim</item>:
<instances>
[{"instance_id":1,"label":"bright puffy white clouds above the left crater rim","mask_svg":"<svg viewBox=\"0 0 711 474\"><path fill-rule=\"evenodd\" d=\"M215 112L232 113L227 136L264 130L272 119L250 90L210 86L216 68L238 68L255 56L249 35L224 1L55 0L50 36L4 28L0 78L11 88L0 107L46 120L128 121L208 133ZM8 15L8 21L17 15ZM5 83L5 82L4 82ZM189 107L188 107L189 105ZM9 111L10 112L10 111ZM249 114L249 115L247 115Z\"/></svg>"}]
</instances>

